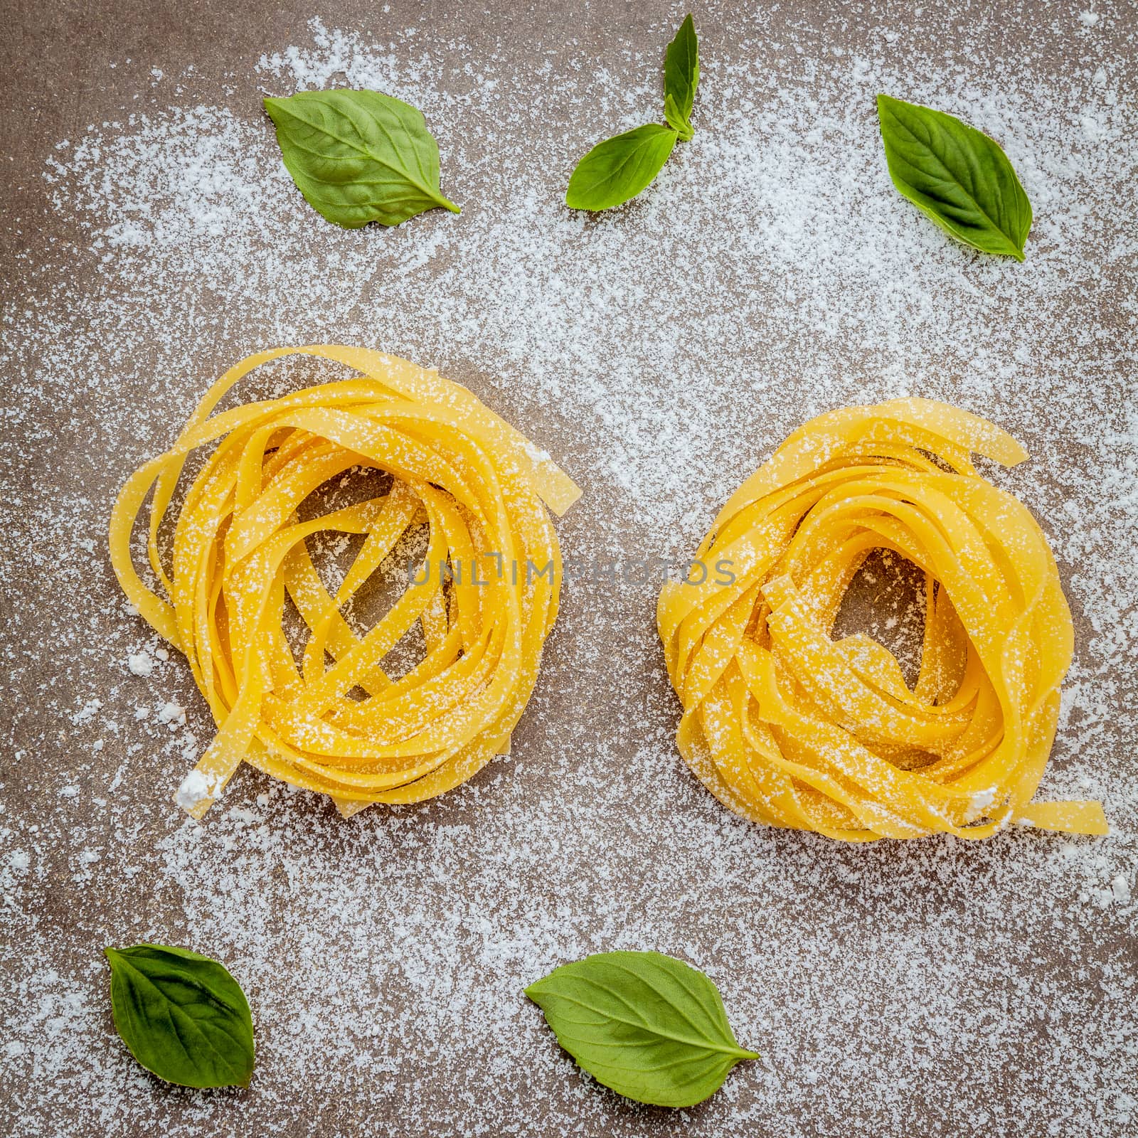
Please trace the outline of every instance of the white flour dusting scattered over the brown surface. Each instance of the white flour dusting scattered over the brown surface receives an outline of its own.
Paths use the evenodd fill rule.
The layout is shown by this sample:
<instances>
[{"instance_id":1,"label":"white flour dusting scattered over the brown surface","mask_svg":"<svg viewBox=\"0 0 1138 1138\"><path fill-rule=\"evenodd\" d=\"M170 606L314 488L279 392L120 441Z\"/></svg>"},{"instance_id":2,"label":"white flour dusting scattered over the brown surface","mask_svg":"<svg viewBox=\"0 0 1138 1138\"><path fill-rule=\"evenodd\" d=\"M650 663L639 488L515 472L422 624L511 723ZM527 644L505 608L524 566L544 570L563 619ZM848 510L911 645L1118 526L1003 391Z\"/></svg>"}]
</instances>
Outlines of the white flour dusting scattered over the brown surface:
<instances>
[{"instance_id":1,"label":"white flour dusting scattered over the brown surface","mask_svg":"<svg viewBox=\"0 0 1138 1138\"><path fill-rule=\"evenodd\" d=\"M0 325L0 572L39 620L3 642L3 1132L1135 1133L1133 14L1024 0L1006 18L1041 46L1017 57L995 17L962 39L939 6L912 34L739 7L696 14L695 138L599 217L564 209L566 178L658 113L655 52L597 75L561 41L519 60L313 23L207 101L142 60L142 98L44 154L64 236L25 240ZM345 232L304 206L258 98L330 83L423 110L461 216ZM880 90L1000 140L1036 213L1024 264L891 190ZM585 489L567 554L690 553L822 410L917 394L993 419L1032 457L991 477L1041 519L1077 624L1041 793L1102 799L1112 835L848 848L740 822L675 752L652 588L620 577L570 582L512 752L471 784L344 822L246 768L185 819L171 797L208 797L187 772L214 727L117 592L110 502L228 364L321 340L438 366L517 423ZM168 1090L126 1055L100 954L140 940L246 987L248 1091ZM682 1118L599 1091L521 989L612 948L704 968L764 1063Z\"/></svg>"}]
</instances>

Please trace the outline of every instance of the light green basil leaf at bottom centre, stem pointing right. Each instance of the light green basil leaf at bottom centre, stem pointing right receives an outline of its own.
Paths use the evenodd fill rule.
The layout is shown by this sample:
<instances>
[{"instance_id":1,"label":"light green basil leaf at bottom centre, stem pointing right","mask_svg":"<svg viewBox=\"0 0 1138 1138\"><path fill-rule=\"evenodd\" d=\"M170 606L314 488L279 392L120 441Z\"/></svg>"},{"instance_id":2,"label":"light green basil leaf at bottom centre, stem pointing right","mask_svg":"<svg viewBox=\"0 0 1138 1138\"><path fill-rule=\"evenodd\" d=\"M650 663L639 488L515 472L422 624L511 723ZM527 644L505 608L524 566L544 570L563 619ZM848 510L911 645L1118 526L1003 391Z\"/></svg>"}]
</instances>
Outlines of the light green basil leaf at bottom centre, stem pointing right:
<instances>
[{"instance_id":1,"label":"light green basil leaf at bottom centre, stem pointing right","mask_svg":"<svg viewBox=\"0 0 1138 1138\"><path fill-rule=\"evenodd\" d=\"M654 1106L714 1095L743 1050L715 984L659 953L597 953L554 968L526 995L597 1082Z\"/></svg>"}]
</instances>

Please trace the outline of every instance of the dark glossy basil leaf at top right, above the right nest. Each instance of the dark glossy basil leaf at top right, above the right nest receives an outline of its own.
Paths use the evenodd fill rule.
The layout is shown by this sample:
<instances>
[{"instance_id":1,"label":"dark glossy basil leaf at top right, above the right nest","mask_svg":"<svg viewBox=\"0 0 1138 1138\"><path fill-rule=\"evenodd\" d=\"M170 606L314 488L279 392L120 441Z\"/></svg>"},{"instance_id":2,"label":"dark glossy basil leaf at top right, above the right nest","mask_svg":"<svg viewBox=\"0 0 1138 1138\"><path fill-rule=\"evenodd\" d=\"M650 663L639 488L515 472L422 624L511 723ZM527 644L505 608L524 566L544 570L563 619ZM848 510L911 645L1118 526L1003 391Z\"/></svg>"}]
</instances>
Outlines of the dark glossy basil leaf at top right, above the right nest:
<instances>
[{"instance_id":1,"label":"dark glossy basil leaf at top right, above the right nest","mask_svg":"<svg viewBox=\"0 0 1138 1138\"><path fill-rule=\"evenodd\" d=\"M1007 155L953 115L877 96L889 176L941 229L981 253L1023 261L1031 203Z\"/></svg>"}]
</instances>

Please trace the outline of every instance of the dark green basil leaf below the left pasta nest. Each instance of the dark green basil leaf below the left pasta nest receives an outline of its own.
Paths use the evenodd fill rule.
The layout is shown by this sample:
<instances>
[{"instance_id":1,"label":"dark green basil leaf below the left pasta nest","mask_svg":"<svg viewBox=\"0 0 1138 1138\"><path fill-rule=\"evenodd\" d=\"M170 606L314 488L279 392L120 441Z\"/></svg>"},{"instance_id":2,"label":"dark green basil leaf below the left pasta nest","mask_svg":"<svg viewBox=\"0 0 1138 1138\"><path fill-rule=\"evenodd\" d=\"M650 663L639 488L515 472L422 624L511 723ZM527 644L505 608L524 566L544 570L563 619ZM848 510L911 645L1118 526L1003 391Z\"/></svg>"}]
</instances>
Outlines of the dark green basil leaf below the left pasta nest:
<instances>
[{"instance_id":1,"label":"dark green basil leaf below the left pasta nest","mask_svg":"<svg viewBox=\"0 0 1138 1138\"><path fill-rule=\"evenodd\" d=\"M105 951L115 1028L142 1066L183 1087L248 1086L253 1017L221 964L165 945Z\"/></svg>"}]
</instances>

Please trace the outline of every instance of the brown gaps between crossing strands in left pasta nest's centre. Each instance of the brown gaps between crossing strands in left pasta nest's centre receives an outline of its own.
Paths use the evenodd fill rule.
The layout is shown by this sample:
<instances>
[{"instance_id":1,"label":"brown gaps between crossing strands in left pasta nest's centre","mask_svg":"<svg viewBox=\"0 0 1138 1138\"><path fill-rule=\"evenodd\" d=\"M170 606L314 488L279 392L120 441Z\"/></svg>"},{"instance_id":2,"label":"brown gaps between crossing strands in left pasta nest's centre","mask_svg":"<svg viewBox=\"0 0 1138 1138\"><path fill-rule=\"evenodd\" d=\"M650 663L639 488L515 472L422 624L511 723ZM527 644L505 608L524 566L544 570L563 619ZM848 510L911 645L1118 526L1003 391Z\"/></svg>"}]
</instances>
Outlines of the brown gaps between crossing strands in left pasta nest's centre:
<instances>
[{"instance_id":1,"label":"brown gaps between crossing strands in left pasta nest's centre","mask_svg":"<svg viewBox=\"0 0 1138 1138\"><path fill-rule=\"evenodd\" d=\"M343 510L346 506L366 502L386 495L394 484L390 475L371 467L353 467L337 478L319 486L310 494L297 510L300 521ZM427 554L429 539L426 522L411 526L395 543L391 552L380 562L379 568L355 592L346 605L341 605L340 616L348 622L357 636L370 632L406 592L409 587L407 566L418 571ZM330 595L337 589L360 555L366 537L363 534L343 534L320 531L306 539L308 556L312 559L316 576ZM445 591L445 586L444 586ZM308 626L292 604L290 597L284 600L284 633L295 659L304 658L305 645L308 642ZM403 637L384 657L384 671L395 681L406 675L427 655L427 642L422 625L415 620ZM325 655L325 663L331 666L333 658ZM366 692L361 687L346 693L348 699L362 700Z\"/></svg>"}]
</instances>

